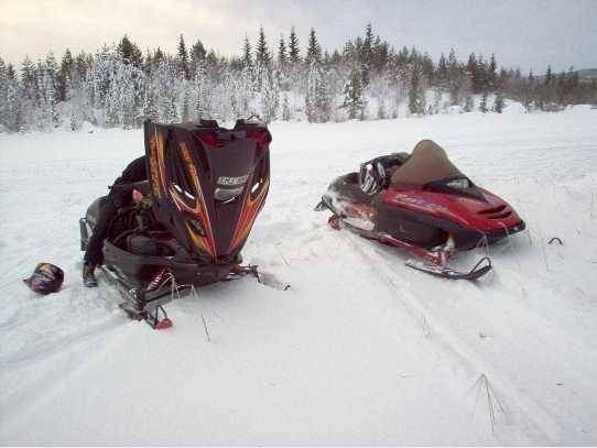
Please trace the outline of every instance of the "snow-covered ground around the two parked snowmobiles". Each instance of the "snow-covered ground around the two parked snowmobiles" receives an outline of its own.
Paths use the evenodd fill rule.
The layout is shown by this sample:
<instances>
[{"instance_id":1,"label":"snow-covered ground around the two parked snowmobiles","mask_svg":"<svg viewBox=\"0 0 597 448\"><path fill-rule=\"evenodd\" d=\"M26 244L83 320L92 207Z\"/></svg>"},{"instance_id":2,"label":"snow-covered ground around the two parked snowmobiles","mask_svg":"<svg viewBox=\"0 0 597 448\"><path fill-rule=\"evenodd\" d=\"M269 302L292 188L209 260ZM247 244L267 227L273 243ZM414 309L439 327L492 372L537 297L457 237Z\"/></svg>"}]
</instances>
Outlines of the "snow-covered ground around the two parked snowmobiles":
<instances>
[{"instance_id":1,"label":"snow-covered ground around the two parked snowmobiles","mask_svg":"<svg viewBox=\"0 0 597 448\"><path fill-rule=\"evenodd\" d=\"M1 444L596 442L596 110L271 131L243 255L292 288L202 288L164 331L79 276L77 220L141 131L0 135ZM336 175L423 138L528 223L479 282L411 270L312 211ZM58 294L21 283L40 261L66 271Z\"/></svg>"}]
</instances>

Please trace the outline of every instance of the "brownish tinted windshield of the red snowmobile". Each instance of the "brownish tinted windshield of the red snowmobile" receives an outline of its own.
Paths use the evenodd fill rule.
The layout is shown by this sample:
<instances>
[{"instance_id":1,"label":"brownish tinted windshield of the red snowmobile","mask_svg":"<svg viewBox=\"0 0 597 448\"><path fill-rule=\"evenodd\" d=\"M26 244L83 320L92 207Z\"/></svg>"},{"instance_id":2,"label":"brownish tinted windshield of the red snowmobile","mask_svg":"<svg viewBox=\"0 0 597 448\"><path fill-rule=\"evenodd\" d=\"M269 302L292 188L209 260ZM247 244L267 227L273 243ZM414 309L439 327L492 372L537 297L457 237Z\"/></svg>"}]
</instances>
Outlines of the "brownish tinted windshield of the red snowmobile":
<instances>
[{"instance_id":1,"label":"brownish tinted windshield of the red snowmobile","mask_svg":"<svg viewBox=\"0 0 597 448\"><path fill-rule=\"evenodd\" d=\"M394 172L390 185L397 189L422 189L426 184L447 178L467 179L438 144L422 140L409 160Z\"/></svg>"}]
</instances>

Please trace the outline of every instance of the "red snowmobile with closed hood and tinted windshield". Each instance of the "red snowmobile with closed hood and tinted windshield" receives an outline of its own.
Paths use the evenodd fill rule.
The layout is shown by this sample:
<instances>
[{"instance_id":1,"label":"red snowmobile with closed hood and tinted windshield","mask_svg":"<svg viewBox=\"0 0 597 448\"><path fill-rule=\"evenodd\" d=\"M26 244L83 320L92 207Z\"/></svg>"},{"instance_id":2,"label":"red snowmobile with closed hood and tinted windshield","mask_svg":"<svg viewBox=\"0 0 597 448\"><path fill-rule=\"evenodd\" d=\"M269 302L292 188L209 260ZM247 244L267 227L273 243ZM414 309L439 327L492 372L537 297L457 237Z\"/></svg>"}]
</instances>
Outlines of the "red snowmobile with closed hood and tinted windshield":
<instances>
[{"instance_id":1,"label":"red snowmobile with closed hood and tinted windshield","mask_svg":"<svg viewBox=\"0 0 597 448\"><path fill-rule=\"evenodd\" d=\"M484 256L469 271L448 261L460 251L493 244L525 225L503 199L475 185L431 140L411 154L393 153L336 178L315 210L328 223L406 250L406 265L447 277L475 280L491 270Z\"/></svg>"}]
</instances>

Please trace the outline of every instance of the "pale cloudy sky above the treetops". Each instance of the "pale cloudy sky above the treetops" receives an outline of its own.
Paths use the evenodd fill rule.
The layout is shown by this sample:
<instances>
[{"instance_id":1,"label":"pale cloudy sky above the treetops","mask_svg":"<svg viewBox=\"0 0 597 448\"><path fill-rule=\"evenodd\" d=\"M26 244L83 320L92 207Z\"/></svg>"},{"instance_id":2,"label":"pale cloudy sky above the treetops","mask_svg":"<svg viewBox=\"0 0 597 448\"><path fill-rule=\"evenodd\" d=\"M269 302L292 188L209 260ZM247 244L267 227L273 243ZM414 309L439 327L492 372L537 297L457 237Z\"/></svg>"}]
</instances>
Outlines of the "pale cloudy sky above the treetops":
<instances>
[{"instance_id":1,"label":"pale cloudy sky above the treetops","mask_svg":"<svg viewBox=\"0 0 597 448\"><path fill-rule=\"evenodd\" d=\"M93 52L124 33L142 50L174 51L183 33L230 55L260 25L271 46L294 25L303 48L313 26L334 50L370 21L397 47L434 58L454 46L462 58L496 53L523 70L597 68L597 0L0 0L0 56L12 63Z\"/></svg>"}]
</instances>

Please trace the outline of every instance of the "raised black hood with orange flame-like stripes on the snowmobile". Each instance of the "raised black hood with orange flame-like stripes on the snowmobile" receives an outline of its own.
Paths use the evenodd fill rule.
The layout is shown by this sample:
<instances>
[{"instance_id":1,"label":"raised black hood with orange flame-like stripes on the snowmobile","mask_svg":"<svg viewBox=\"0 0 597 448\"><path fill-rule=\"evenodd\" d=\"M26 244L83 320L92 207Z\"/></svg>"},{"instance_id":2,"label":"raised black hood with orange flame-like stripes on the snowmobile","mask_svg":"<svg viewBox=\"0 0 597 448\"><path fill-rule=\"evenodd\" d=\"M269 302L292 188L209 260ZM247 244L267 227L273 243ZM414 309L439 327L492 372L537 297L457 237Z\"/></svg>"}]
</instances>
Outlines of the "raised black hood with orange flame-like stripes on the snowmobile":
<instances>
[{"instance_id":1,"label":"raised black hood with orange flame-like stripes on the snowmobile","mask_svg":"<svg viewBox=\"0 0 597 448\"><path fill-rule=\"evenodd\" d=\"M148 174L158 220L200 261L237 259L270 182L268 128L239 120L145 121Z\"/></svg>"}]
</instances>

